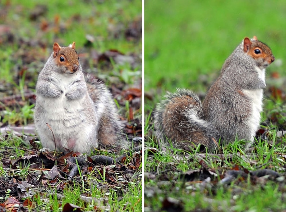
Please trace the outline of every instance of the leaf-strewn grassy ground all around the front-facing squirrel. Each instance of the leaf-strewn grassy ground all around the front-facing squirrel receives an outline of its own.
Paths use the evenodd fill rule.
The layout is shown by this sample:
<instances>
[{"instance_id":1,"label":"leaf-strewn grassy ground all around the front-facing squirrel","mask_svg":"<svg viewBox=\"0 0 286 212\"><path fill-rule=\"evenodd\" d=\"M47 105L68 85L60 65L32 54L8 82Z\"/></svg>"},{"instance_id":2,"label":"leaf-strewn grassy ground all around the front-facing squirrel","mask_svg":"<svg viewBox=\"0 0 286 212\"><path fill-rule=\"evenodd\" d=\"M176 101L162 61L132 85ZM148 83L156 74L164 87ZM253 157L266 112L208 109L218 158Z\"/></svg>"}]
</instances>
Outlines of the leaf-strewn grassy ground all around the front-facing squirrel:
<instances>
[{"instance_id":1,"label":"leaf-strewn grassy ground all around the front-facing squirrel","mask_svg":"<svg viewBox=\"0 0 286 212\"><path fill-rule=\"evenodd\" d=\"M76 42L84 71L105 82L130 150L40 151L35 84L54 42ZM1 211L141 211L142 1L1 1L0 61Z\"/></svg>"}]
</instances>

